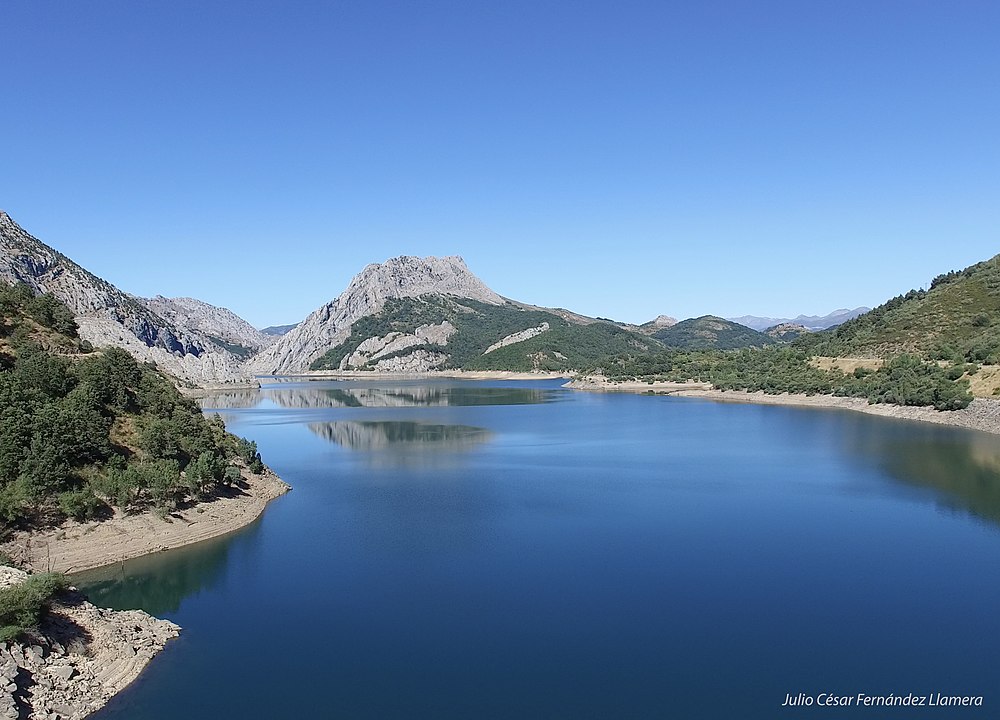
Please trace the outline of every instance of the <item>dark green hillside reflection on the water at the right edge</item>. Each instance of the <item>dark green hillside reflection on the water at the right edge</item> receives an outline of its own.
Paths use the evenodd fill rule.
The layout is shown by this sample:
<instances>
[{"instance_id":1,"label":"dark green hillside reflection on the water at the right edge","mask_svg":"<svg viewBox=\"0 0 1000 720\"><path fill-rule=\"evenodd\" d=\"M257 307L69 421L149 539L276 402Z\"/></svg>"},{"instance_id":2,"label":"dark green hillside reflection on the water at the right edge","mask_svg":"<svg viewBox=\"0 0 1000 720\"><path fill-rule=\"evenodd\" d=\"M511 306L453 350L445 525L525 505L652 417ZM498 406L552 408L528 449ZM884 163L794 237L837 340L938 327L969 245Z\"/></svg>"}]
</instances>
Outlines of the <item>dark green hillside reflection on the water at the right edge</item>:
<instances>
[{"instance_id":1,"label":"dark green hillside reflection on the water at the right edge","mask_svg":"<svg viewBox=\"0 0 1000 720\"><path fill-rule=\"evenodd\" d=\"M852 450L938 502L1000 525L1000 437L906 423L896 432L845 434Z\"/></svg>"}]
</instances>

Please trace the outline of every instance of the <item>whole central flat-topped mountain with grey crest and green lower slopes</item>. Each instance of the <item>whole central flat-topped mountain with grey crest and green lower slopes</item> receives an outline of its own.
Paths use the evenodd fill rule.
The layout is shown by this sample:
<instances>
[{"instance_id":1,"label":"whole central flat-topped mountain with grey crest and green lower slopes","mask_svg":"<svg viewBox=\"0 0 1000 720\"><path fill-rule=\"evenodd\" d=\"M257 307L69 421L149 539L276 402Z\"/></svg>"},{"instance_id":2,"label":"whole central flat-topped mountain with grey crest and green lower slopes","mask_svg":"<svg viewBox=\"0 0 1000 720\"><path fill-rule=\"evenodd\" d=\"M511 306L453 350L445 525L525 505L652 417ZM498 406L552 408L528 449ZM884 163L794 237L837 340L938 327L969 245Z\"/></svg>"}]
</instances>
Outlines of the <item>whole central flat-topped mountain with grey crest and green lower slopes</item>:
<instances>
[{"instance_id":1,"label":"whole central flat-topped mountain with grey crest and green lower slopes","mask_svg":"<svg viewBox=\"0 0 1000 720\"><path fill-rule=\"evenodd\" d=\"M369 265L339 297L250 360L311 370L569 370L659 343L616 323L501 297L460 257Z\"/></svg>"}]
</instances>

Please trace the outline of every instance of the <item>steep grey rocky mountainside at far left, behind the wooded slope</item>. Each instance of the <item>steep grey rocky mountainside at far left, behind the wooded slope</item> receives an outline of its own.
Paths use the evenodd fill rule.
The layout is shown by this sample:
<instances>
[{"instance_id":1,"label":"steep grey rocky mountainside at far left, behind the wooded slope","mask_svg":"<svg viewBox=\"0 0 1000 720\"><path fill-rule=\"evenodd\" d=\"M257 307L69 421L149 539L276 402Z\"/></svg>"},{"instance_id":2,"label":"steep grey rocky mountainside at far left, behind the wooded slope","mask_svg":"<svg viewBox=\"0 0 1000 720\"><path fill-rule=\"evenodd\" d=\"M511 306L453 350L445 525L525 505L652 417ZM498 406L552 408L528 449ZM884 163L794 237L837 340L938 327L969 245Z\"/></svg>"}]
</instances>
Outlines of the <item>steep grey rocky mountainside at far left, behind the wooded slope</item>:
<instances>
[{"instance_id":1,"label":"steep grey rocky mountainside at far left, behind the wooded slope","mask_svg":"<svg viewBox=\"0 0 1000 720\"><path fill-rule=\"evenodd\" d=\"M25 232L0 211L0 280L51 293L76 316L80 337L114 345L184 380L226 381L244 376L240 358L217 340L170 322Z\"/></svg>"}]
</instances>

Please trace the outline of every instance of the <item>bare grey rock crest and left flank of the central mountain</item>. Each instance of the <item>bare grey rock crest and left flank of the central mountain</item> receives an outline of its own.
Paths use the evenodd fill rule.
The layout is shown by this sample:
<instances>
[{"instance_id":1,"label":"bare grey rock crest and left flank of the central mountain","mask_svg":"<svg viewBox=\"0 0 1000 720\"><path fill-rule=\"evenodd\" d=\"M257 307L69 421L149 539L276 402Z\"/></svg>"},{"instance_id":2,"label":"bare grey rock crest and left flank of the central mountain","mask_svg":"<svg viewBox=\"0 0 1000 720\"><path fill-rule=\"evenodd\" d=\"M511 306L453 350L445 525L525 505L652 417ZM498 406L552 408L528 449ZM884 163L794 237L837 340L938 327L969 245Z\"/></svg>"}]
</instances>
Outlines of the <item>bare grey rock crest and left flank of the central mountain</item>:
<instances>
[{"instance_id":1,"label":"bare grey rock crest and left flank of the central mountain","mask_svg":"<svg viewBox=\"0 0 1000 720\"><path fill-rule=\"evenodd\" d=\"M469 298L491 305L504 303L504 298L473 275L460 257L393 258L362 270L337 299L313 312L255 356L248 368L262 375L306 370L319 355L347 339L353 322L377 313L387 300L430 294ZM409 364L428 362L435 359L424 357Z\"/></svg>"}]
</instances>

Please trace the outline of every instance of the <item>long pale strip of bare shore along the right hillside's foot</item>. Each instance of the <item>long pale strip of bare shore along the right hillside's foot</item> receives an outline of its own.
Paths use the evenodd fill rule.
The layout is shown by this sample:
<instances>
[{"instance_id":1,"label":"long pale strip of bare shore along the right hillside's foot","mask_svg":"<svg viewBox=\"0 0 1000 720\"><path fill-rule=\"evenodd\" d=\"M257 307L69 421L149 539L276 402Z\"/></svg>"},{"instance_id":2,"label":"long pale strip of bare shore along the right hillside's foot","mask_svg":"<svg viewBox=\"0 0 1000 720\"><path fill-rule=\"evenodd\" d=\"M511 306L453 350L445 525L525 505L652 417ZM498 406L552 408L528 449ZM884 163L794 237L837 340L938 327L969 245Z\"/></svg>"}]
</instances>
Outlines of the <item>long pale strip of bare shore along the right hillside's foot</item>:
<instances>
[{"instance_id":1,"label":"long pale strip of bare shore along the right hillside's foot","mask_svg":"<svg viewBox=\"0 0 1000 720\"><path fill-rule=\"evenodd\" d=\"M930 407L902 405L869 405L863 398L835 397L833 395L768 395L764 392L741 390L713 390L708 383L611 383L597 378L574 380L566 387L590 392L633 392L673 395L676 397L703 398L719 402L755 403L758 405L791 405L796 407L834 408L854 410L904 420L919 420L938 425L953 425L970 430L1000 435L1000 399L976 398L964 410L939 412Z\"/></svg>"}]
</instances>

